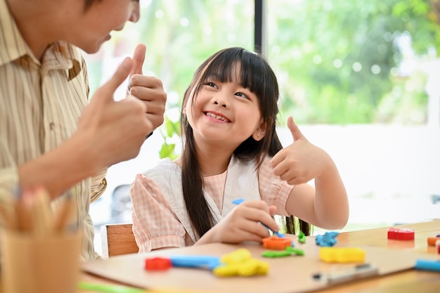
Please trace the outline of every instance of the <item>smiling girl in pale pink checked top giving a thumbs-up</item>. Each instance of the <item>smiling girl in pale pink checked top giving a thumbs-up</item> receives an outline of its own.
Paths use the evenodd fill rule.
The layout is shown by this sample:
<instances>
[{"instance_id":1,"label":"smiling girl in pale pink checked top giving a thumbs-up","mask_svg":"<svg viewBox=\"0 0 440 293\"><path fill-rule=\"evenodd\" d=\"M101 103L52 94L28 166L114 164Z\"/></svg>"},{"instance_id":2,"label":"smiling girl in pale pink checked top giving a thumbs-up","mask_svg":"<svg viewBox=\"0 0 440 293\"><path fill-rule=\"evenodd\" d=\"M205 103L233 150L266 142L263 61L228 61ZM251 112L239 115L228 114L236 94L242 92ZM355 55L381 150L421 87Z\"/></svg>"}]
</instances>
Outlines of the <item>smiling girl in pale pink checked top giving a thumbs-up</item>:
<instances>
[{"instance_id":1,"label":"smiling girl in pale pink checked top giving a thumbs-up","mask_svg":"<svg viewBox=\"0 0 440 293\"><path fill-rule=\"evenodd\" d=\"M278 231L273 215L342 228L347 193L329 155L292 117L293 143L276 134L278 82L266 60L226 48L195 72L182 105L183 151L131 185L140 252L210 242L258 241ZM315 179L315 188L307 184ZM235 206L233 200L245 202Z\"/></svg>"}]
</instances>

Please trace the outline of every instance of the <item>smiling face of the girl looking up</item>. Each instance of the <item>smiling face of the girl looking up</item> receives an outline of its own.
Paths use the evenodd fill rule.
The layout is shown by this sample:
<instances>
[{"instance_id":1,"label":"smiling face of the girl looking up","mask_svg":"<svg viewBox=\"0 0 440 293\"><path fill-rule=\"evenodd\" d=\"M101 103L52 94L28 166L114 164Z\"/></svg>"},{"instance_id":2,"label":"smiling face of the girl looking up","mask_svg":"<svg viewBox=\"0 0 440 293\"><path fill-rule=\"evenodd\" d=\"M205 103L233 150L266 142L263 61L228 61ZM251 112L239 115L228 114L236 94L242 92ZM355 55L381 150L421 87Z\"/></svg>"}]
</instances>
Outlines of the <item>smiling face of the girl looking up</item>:
<instances>
[{"instance_id":1,"label":"smiling face of the girl looking up","mask_svg":"<svg viewBox=\"0 0 440 293\"><path fill-rule=\"evenodd\" d=\"M188 98L183 114L196 141L221 148L235 150L250 136L259 141L264 135L257 96L236 82L205 80L197 96Z\"/></svg>"}]
</instances>

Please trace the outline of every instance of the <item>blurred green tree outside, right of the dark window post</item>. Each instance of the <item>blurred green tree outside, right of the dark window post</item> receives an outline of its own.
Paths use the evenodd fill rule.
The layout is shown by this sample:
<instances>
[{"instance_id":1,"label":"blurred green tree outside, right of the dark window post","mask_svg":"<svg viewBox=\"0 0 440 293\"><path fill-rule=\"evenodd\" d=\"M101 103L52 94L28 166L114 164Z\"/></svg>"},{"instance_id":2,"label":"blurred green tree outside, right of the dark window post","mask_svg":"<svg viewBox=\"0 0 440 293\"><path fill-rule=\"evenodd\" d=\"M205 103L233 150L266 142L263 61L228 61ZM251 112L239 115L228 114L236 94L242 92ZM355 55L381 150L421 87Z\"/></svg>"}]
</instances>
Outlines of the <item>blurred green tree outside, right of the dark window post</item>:
<instances>
[{"instance_id":1,"label":"blurred green tree outside, right of the dark window post","mask_svg":"<svg viewBox=\"0 0 440 293\"><path fill-rule=\"evenodd\" d=\"M268 56L281 77L283 115L302 123L425 122L425 79L401 66L437 48L440 30L429 3L313 0L292 9L270 3ZM394 111L384 106L390 100Z\"/></svg>"}]
</instances>

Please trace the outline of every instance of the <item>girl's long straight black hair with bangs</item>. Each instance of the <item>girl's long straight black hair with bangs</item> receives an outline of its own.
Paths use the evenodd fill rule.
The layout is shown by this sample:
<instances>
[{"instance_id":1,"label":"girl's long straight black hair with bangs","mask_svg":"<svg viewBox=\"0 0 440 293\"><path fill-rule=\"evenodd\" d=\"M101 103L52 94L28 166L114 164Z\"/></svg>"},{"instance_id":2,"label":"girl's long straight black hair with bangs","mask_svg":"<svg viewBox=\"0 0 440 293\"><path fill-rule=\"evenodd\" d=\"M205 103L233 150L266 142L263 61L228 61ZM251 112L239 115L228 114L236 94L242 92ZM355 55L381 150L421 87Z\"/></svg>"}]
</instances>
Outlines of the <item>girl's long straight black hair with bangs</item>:
<instances>
[{"instance_id":1,"label":"girl's long straight black hair with bangs","mask_svg":"<svg viewBox=\"0 0 440 293\"><path fill-rule=\"evenodd\" d=\"M238 67L240 74L236 74ZM261 141L255 141L250 136L234 151L235 157L240 160L255 160L258 168L266 155L273 157L283 148L276 134L279 91L273 70L261 55L244 48L226 48L214 53L195 71L193 81L183 99L182 112L188 98L197 96L203 82L209 77L216 77L219 82L238 82L259 98L261 117L266 124L264 138ZM181 115L181 134L183 138L181 156L183 198L190 221L199 237L202 237L216 223L203 194L203 176L195 154L193 129L186 115L183 114ZM286 233L294 234L295 225L292 216L287 217L286 224ZM299 220L299 228L304 234L309 235L309 223Z\"/></svg>"}]
</instances>

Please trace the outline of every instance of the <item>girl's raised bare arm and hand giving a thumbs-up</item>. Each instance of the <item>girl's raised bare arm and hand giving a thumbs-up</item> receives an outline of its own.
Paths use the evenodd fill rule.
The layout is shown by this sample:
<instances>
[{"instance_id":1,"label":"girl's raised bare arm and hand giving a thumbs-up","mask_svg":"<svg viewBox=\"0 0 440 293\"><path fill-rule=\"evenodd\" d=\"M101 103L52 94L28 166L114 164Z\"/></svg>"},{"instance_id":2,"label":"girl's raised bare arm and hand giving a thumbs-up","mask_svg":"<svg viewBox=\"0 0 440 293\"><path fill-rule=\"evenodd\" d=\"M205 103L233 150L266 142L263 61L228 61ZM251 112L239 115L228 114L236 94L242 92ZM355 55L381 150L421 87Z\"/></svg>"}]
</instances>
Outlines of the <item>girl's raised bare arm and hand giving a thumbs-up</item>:
<instances>
[{"instance_id":1,"label":"girl's raised bare arm and hand giving a thumbs-up","mask_svg":"<svg viewBox=\"0 0 440 293\"><path fill-rule=\"evenodd\" d=\"M314 226L343 228L348 221L347 191L335 162L327 152L307 141L293 122L287 121L294 143L271 160L274 174L296 185L286 202L286 211ZM307 184L314 179L315 188Z\"/></svg>"}]
</instances>

